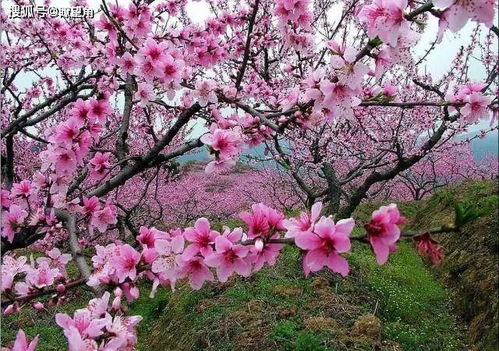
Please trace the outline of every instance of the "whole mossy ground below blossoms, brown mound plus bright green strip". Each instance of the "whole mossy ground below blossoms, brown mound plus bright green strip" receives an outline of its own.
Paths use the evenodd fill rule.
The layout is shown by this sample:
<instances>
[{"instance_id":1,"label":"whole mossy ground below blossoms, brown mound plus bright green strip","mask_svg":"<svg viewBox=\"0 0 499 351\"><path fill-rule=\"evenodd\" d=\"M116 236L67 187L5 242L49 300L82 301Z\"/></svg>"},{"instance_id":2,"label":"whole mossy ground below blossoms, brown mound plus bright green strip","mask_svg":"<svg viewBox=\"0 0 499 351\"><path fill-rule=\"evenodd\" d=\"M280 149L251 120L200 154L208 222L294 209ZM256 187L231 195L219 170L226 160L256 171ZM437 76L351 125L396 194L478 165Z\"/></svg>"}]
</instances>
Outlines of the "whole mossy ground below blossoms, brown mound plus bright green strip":
<instances>
[{"instance_id":1,"label":"whole mossy ground below blossoms, brown mound plus bright green strip","mask_svg":"<svg viewBox=\"0 0 499 351\"><path fill-rule=\"evenodd\" d=\"M182 287L141 330L141 350L462 350L447 293L402 244L386 266L370 250L350 255L353 273L303 277L288 247L275 267L200 291ZM133 310L134 307L132 307ZM383 333L354 333L376 313Z\"/></svg>"}]
</instances>

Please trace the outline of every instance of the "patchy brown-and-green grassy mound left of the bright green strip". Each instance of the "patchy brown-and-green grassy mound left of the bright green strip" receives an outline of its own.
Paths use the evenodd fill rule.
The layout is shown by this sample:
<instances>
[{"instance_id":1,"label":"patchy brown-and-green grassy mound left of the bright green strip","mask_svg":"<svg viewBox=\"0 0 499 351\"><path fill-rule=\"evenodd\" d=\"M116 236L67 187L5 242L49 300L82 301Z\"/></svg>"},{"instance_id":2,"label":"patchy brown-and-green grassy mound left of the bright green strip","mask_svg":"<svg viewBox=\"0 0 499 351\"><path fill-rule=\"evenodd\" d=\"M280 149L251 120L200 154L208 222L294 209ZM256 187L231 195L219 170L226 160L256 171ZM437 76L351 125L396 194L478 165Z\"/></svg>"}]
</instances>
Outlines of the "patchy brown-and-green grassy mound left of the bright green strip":
<instances>
[{"instance_id":1,"label":"patchy brown-and-green grassy mound left of the bright green strip","mask_svg":"<svg viewBox=\"0 0 499 351\"><path fill-rule=\"evenodd\" d=\"M312 280L303 277L298 250L287 247L284 251L276 268L266 268L252 278L236 278L200 291L182 287L167 307L170 314L158 320L151 335L155 339L160 332L175 330L178 339L155 343L150 349L245 350L279 344L284 350L326 350L331 334L308 332L303 324L304 317L323 313L318 304L308 306L317 300ZM292 309L296 311L278 317ZM241 341L244 335L247 339ZM259 348L241 346L252 335L263 337Z\"/></svg>"}]
</instances>

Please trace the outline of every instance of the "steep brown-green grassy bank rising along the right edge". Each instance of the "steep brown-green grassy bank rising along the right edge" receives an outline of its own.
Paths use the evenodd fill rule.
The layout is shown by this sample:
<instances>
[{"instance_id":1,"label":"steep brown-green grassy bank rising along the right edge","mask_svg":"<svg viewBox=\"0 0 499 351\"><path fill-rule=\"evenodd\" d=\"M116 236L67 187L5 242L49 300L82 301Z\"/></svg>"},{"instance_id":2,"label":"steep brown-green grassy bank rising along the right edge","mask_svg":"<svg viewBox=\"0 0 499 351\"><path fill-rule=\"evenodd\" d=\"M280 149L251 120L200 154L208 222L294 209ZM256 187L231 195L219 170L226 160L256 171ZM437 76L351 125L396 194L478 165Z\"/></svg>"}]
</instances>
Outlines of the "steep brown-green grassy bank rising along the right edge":
<instances>
[{"instance_id":1,"label":"steep brown-green grassy bank rising along the right edge","mask_svg":"<svg viewBox=\"0 0 499 351\"><path fill-rule=\"evenodd\" d=\"M469 326L467 339L474 350L499 349L499 233L496 181L469 182L435 194L413 220L427 228L453 219L455 201L470 202L484 216L464 226L459 234L441 235L446 259L434 271L452 291L455 312Z\"/></svg>"}]
</instances>

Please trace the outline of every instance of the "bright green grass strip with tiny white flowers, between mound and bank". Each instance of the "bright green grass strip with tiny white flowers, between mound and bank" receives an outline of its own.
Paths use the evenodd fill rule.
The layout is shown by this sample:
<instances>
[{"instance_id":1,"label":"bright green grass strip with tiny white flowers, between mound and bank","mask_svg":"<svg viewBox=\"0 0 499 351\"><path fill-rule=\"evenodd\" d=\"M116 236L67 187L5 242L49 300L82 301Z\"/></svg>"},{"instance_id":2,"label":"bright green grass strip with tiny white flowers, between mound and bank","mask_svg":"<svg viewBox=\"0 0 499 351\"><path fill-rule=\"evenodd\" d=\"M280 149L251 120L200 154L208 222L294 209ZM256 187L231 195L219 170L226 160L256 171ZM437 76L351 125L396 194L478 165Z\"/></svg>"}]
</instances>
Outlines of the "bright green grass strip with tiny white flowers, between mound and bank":
<instances>
[{"instance_id":1,"label":"bright green grass strip with tiny white flowers, between mound and bank","mask_svg":"<svg viewBox=\"0 0 499 351\"><path fill-rule=\"evenodd\" d=\"M385 335L406 351L461 350L461 336L449 314L448 294L408 243L378 266L370 250L350 256L361 288L377 299Z\"/></svg>"}]
</instances>

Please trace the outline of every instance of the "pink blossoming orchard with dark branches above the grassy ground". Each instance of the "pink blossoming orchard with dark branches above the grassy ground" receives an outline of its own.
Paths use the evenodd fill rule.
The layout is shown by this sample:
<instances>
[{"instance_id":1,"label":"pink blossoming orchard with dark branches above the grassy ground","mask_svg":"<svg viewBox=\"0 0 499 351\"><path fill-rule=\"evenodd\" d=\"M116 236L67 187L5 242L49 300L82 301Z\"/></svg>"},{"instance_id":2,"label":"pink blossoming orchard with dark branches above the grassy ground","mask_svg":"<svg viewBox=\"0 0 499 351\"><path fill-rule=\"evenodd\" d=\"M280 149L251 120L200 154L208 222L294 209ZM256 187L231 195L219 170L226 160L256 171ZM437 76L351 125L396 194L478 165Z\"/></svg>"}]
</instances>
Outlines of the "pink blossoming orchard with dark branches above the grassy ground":
<instances>
[{"instance_id":1,"label":"pink blossoming orchard with dark branches above the grassy ground","mask_svg":"<svg viewBox=\"0 0 499 351\"><path fill-rule=\"evenodd\" d=\"M91 289L55 314L69 350L134 350L139 294L249 277L286 245L305 276L346 277L354 242L383 265L411 240L438 264L436 237L468 217L409 231L395 204L352 213L495 176L458 137L496 129L495 0L74 0L95 17L9 18L30 4L1 12L2 314ZM447 37L463 45L436 78ZM19 330L5 350L43 343Z\"/></svg>"}]
</instances>

